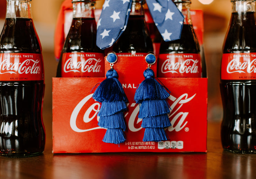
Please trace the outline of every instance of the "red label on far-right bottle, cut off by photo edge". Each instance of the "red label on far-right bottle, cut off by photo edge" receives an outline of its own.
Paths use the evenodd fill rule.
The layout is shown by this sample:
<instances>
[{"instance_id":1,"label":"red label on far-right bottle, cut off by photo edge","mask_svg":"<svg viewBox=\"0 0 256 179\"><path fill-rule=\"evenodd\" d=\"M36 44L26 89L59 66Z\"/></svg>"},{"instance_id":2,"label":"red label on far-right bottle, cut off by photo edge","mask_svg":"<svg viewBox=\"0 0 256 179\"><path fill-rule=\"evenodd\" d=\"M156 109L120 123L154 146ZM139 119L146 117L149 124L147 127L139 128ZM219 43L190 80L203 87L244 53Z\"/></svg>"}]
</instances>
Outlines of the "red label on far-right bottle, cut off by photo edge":
<instances>
[{"instance_id":1,"label":"red label on far-right bottle, cut off by photo edge","mask_svg":"<svg viewBox=\"0 0 256 179\"><path fill-rule=\"evenodd\" d=\"M223 54L221 79L256 79L256 53Z\"/></svg>"}]
</instances>

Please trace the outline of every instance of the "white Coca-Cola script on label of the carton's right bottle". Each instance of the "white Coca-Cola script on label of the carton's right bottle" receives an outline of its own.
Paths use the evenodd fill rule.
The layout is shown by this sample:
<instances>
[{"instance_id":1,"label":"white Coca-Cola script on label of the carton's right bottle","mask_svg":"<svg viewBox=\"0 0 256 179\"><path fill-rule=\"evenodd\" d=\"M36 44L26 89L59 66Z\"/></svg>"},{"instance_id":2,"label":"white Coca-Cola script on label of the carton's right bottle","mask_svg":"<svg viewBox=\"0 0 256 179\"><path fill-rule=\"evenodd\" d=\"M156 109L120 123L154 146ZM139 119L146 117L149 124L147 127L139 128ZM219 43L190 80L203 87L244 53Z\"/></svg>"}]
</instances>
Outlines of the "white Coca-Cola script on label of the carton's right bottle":
<instances>
[{"instance_id":1,"label":"white Coca-Cola script on label of the carton's right bottle","mask_svg":"<svg viewBox=\"0 0 256 179\"><path fill-rule=\"evenodd\" d=\"M169 59L165 60L162 67L162 73L199 73L200 63L197 59L186 59L184 62L174 62Z\"/></svg>"}]
</instances>

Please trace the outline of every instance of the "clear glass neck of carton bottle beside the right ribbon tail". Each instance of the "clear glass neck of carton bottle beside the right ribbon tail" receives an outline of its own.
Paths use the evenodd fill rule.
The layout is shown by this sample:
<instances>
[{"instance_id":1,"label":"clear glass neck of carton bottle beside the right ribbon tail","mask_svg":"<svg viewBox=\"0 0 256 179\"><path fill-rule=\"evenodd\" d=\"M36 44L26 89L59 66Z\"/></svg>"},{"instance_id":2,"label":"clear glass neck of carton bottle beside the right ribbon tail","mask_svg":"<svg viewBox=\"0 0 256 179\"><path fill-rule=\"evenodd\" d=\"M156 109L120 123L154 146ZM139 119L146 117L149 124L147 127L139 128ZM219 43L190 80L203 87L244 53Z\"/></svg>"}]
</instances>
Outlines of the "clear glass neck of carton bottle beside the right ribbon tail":
<instances>
[{"instance_id":1,"label":"clear glass neck of carton bottle beside the right ribbon tail","mask_svg":"<svg viewBox=\"0 0 256 179\"><path fill-rule=\"evenodd\" d=\"M192 25L191 22L191 15L190 15L190 4L189 1L182 1L182 2L174 2L177 8L182 12L184 16L184 24Z\"/></svg>"}]
</instances>

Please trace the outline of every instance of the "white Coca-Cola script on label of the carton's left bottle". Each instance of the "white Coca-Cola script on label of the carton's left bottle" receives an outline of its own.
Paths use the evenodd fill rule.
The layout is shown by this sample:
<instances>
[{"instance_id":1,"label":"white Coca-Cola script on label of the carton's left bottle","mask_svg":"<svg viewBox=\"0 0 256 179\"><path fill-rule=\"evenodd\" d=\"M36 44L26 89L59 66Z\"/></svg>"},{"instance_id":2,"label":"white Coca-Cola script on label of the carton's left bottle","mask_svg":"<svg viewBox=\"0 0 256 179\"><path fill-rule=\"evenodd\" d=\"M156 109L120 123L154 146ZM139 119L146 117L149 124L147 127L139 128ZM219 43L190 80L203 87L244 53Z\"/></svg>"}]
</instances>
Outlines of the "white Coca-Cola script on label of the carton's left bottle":
<instances>
[{"instance_id":1,"label":"white Coca-Cola script on label of the carton's left bottle","mask_svg":"<svg viewBox=\"0 0 256 179\"><path fill-rule=\"evenodd\" d=\"M68 58L64 64L63 71L68 72L100 72L101 59L89 58L80 62L73 62L72 58Z\"/></svg>"}]
</instances>

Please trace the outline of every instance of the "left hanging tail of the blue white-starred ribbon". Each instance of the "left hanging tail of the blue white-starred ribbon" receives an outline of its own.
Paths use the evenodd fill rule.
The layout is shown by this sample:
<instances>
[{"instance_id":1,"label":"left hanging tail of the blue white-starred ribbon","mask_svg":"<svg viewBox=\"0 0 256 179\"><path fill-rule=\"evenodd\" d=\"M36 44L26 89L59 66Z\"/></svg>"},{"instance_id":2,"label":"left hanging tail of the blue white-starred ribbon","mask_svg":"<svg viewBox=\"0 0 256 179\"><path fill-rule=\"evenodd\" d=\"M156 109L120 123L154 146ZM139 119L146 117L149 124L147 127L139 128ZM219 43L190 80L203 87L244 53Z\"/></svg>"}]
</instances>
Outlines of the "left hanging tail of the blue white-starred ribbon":
<instances>
[{"instance_id":1,"label":"left hanging tail of the blue white-starred ribbon","mask_svg":"<svg viewBox=\"0 0 256 179\"><path fill-rule=\"evenodd\" d=\"M97 41L99 48L113 45L124 32L131 11L132 0L105 0L97 24Z\"/></svg>"}]
</instances>

